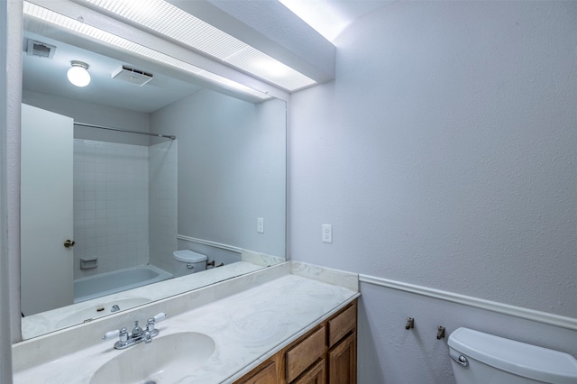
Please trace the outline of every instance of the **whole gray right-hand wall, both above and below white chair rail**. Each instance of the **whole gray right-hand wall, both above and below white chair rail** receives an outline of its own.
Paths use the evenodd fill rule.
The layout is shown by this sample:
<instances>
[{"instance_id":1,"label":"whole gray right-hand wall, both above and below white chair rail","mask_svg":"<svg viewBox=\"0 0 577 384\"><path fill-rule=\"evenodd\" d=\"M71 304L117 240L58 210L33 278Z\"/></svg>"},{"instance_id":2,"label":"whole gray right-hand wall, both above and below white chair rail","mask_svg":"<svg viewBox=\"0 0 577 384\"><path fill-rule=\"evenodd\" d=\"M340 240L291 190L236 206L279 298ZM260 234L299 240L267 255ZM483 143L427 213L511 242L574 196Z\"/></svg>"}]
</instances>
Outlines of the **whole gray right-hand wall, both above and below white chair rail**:
<instances>
[{"instance_id":1,"label":"whole gray right-hand wall, both above and below white chair rail","mask_svg":"<svg viewBox=\"0 0 577 384\"><path fill-rule=\"evenodd\" d=\"M291 96L290 258L577 318L576 43L574 2L397 2L353 23L336 80ZM574 331L361 290L362 383L452 382L436 325L577 356Z\"/></svg>"}]
</instances>

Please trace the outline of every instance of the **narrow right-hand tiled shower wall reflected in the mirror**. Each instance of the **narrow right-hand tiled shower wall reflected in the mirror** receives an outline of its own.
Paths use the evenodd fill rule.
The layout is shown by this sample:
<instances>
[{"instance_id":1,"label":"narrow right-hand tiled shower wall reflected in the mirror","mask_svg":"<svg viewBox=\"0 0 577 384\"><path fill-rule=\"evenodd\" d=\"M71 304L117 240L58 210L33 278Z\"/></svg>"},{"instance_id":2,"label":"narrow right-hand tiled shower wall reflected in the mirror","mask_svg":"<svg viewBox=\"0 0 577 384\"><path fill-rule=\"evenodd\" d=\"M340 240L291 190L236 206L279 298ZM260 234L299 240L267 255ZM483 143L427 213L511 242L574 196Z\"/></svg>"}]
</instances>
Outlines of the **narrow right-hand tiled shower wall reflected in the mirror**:
<instances>
[{"instance_id":1,"label":"narrow right-hand tiled shower wall reflected in the mirror","mask_svg":"<svg viewBox=\"0 0 577 384\"><path fill-rule=\"evenodd\" d=\"M149 147L149 239L152 265L172 273L172 252L177 251L177 152L172 140Z\"/></svg>"}]
</instances>

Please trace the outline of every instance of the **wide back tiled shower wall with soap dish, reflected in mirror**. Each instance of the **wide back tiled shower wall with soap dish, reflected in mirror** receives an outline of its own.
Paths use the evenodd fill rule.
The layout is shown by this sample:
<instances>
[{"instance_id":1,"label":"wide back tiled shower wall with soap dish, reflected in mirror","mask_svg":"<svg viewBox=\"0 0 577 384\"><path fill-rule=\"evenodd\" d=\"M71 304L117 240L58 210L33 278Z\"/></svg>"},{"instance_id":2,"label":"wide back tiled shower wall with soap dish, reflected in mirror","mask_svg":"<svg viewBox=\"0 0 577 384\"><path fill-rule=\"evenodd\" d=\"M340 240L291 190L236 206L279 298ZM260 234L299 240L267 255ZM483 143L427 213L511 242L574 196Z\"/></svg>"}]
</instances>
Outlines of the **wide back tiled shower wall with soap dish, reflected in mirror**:
<instances>
[{"instance_id":1,"label":"wide back tiled shower wall with soap dish, reflected in mirror","mask_svg":"<svg viewBox=\"0 0 577 384\"><path fill-rule=\"evenodd\" d=\"M74 279L149 262L148 147L74 140L74 240Z\"/></svg>"}]
</instances>

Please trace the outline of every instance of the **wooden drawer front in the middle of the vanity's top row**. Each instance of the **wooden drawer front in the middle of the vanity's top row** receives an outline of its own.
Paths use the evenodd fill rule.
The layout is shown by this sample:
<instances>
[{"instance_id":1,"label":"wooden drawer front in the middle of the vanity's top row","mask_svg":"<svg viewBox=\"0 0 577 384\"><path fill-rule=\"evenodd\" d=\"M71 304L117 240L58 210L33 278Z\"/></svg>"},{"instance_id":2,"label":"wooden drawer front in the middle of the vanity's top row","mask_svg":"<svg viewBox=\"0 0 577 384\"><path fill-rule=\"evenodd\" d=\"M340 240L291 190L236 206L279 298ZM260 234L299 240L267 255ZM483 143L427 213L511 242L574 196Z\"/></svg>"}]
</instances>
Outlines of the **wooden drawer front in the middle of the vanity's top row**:
<instances>
[{"instance_id":1,"label":"wooden drawer front in the middle of the vanity's top row","mask_svg":"<svg viewBox=\"0 0 577 384\"><path fill-rule=\"evenodd\" d=\"M325 326L322 326L286 353L287 381L297 379L298 375L323 357L324 353Z\"/></svg>"}]
</instances>

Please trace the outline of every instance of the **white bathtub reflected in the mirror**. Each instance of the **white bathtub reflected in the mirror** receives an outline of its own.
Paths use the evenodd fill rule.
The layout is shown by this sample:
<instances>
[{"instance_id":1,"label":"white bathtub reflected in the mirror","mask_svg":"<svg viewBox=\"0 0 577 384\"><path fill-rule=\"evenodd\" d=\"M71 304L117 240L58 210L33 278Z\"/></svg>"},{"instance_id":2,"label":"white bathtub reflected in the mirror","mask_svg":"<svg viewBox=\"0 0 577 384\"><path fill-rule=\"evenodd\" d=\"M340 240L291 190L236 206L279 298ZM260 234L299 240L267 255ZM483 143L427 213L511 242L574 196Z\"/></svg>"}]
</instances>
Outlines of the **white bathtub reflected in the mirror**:
<instances>
[{"instance_id":1,"label":"white bathtub reflected in the mirror","mask_svg":"<svg viewBox=\"0 0 577 384\"><path fill-rule=\"evenodd\" d=\"M141 265L76 279L74 280L74 302L80 303L91 298L112 295L166 279L172 279L172 275L152 265Z\"/></svg>"}]
</instances>

